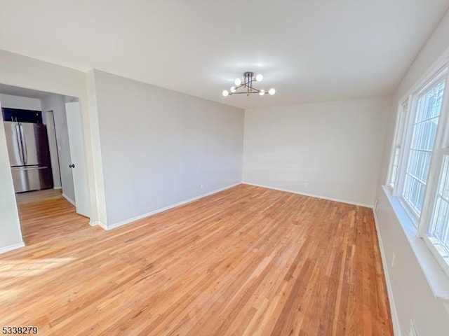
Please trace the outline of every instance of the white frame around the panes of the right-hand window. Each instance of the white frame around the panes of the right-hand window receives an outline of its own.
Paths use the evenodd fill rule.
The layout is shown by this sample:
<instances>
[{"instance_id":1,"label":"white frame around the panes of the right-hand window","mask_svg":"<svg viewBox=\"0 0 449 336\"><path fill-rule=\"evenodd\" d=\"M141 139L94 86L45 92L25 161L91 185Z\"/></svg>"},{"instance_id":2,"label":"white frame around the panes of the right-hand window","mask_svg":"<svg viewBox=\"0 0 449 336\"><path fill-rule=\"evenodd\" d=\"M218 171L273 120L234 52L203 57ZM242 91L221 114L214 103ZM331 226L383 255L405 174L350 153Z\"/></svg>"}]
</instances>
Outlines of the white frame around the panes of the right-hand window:
<instances>
[{"instance_id":1,"label":"white frame around the panes of the right-hand window","mask_svg":"<svg viewBox=\"0 0 449 336\"><path fill-rule=\"evenodd\" d=\"M413 126L417 113L417 103L424 94L429 92L436 83L445 78L445 88L443 92L443 101L441 103L441 111L438 119L438 127L432 149L431 162L429 166L429 174L424 189L424 200L422 204L421 214L410 208L408 202L403 200L404 181L406 169L408 165L408 157L410 155L410 145L413 137ZM406 106L406 111L404 111ZM431 73L422 85L418 87L408 97L401 99L398 104L398 114L396 117L396 128L393 143L391 146L389 160L389 174L387 174L386 186L389 188L391 195L397 198L410 220L415 225L417 237L421 238L429 251L434 255L445 274L449 276L449 264L438 252L434 244L429 239L427 233L431 225L432 214L434 211L434 202L436 202L436 194L438 192L438 184L440 181L441 170L443 169L443 158L449 155L449 59L446 59L443 65L438 66L436 71ZM393 172L394 155L396 148L399 148L398 169L394 185L391 185L391 174ZM449 223L448 223L449 225Z\"/></svg>"}]
</instances>

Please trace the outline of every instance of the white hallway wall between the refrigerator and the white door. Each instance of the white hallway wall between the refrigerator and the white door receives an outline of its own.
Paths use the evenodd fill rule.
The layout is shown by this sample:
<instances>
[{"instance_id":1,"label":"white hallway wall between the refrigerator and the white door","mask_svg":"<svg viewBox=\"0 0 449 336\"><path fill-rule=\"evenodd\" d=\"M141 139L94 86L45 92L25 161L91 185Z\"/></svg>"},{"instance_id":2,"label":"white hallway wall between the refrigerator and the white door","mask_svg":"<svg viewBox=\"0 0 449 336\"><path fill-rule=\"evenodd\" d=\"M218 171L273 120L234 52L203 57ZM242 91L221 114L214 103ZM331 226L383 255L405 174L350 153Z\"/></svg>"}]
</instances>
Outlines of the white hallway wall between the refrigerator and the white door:
<instances>
[{"instance_id":1,"label":"white hallway wall between the refrigerator and the white door","mask_svg":"<svg viewBox=\"0 0 449 336\"><path fill-rule=\"evenodd\" d=\"M51 144L50 152L52 155L52 167L58 169L60 172L60 183L62 184L62 193L70 200L75 201L75 193L73 186L72 169L69 165L72 163L70 159L70 145L69 134L67 131L67 116L65 114L65 96L61 94L48 94L47 97L41 99L42 113L53 111L53 117L55 119L55 131L56 131L56 144ZM50 126L48 126L48 129ZM56 153L58 152L58 153ZM58 160L55 160L59 155ZM53 165L55 163L55 165ZM53 179L58 178L56 171L53 174ZM59 178L58 178L59 180ZM56 181L56 180L55 180ZM55 183L55 186L56 183Z\"/></svg>"}]
</instances>

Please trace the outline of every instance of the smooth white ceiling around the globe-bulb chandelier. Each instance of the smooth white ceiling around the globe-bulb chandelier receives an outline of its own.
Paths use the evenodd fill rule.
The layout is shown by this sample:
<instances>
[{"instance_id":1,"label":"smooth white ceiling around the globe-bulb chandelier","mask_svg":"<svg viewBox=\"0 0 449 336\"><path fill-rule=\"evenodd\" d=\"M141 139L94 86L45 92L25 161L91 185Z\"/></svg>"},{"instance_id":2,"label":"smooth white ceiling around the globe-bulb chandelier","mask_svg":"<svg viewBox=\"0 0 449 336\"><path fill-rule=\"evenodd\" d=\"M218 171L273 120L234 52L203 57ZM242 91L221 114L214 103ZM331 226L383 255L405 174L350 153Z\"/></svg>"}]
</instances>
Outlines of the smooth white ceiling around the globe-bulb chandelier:
<instances>
[{"instance_id":1,"label":"smooth white ceiling around the globe-bulb chandelier","mask_svg":"<svg viewBox=\"0 0 449 336\"><path fill-rule=\"evenodd\" d=\"M391 93L449 0L2 1L0 49L251 108ZM222 97L243 71L273 97ZM262 85L263 84L263 85Z\"/></svg>"}]
</instances>

